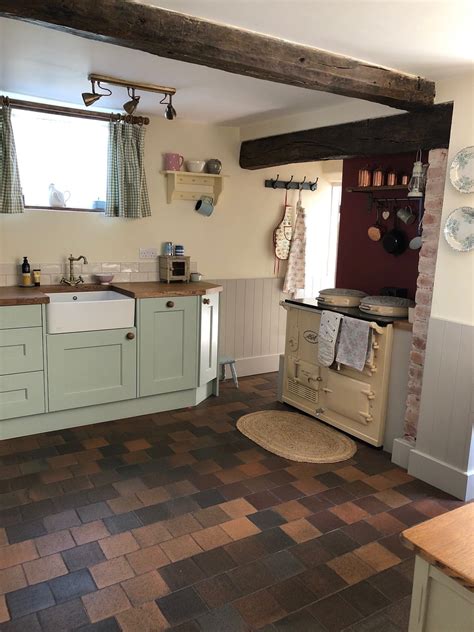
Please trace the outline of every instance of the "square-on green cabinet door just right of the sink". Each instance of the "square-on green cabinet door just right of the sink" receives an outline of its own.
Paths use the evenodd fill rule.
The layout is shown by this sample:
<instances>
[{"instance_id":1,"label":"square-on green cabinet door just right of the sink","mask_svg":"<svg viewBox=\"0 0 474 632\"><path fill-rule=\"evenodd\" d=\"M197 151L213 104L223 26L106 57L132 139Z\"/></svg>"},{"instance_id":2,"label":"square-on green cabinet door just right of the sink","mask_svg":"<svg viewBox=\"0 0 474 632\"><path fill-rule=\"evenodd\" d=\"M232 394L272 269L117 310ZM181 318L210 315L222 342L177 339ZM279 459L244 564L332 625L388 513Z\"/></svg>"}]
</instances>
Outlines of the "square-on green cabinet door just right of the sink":
<instances>
[{"instance_id":1,"label":"square-on green cabinet door just right of the sink","mask_svg":"<svg viewBox=\"0 0 474 632\"><path fill-rule=\"evenodd\" d=\"M199 297L141 299L140 397L197 387Z\"/></svg>"}]
</instances>

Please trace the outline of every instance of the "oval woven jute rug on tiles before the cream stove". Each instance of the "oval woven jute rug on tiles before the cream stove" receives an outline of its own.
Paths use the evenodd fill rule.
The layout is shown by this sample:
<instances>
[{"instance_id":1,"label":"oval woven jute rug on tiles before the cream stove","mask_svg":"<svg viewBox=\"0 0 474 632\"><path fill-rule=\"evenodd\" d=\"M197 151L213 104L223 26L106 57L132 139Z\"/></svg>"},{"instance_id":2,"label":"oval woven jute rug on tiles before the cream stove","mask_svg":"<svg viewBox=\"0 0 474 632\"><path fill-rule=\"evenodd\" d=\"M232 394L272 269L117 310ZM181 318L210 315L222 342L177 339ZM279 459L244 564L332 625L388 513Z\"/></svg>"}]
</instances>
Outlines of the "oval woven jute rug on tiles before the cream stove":
<instances>
[{"instance_id":1,"label":"oval woven jute rug on tiles before the cream stove","mask_svg":"<svg viewBox=\"0 0 474 632\"><path fill-rule=\"evenodd\" d=\"M357 451L349 437L299 413L262 410L240 417L237 428L262 448L290 461L337 463Z\"/></svg>"}]
</instances>

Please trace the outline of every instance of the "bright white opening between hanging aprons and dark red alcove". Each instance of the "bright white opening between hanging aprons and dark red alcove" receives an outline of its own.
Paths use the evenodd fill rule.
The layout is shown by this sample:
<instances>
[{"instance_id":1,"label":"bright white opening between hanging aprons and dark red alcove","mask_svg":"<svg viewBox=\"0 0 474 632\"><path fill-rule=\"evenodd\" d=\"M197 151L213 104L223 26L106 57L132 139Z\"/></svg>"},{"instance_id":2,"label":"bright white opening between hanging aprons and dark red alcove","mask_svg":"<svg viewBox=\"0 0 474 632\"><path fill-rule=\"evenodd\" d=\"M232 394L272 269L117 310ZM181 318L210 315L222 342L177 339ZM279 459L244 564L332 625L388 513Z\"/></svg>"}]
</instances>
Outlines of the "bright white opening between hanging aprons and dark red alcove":
<instances>
[{"instance_id":1,"label":"bright white opening between hanging aprons and dark red alcove","mask_svg":"<svg viewBox=\"0 0 474 632\"><path fill-rule=\"evenodd\" d=\"M341 193L340 185L332 185L327 203L307 214L304 297L315 298L320 290L334 287Z\"/></svg>"}]
</instances>

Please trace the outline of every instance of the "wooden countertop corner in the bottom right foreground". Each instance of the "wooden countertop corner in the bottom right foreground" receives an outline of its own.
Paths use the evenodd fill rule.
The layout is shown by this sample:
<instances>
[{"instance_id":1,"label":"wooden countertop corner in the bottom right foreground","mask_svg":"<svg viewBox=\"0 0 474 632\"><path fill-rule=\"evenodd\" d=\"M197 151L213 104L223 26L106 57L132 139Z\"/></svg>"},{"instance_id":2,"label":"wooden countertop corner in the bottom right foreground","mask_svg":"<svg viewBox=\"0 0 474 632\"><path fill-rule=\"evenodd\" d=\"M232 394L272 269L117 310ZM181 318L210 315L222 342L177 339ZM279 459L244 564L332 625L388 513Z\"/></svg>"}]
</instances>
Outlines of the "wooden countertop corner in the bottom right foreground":
<instances>
[{"instance_id":1,"label":"wooden countertop corner in the bottom right foreground","mask_svg":"<svg viewBox=\"0 0 474 632\"><path fill-rule=\"evenodd\" d=\"M402 532L404 544L474 591L474 503Z\"/></svg>"}]
</instances>

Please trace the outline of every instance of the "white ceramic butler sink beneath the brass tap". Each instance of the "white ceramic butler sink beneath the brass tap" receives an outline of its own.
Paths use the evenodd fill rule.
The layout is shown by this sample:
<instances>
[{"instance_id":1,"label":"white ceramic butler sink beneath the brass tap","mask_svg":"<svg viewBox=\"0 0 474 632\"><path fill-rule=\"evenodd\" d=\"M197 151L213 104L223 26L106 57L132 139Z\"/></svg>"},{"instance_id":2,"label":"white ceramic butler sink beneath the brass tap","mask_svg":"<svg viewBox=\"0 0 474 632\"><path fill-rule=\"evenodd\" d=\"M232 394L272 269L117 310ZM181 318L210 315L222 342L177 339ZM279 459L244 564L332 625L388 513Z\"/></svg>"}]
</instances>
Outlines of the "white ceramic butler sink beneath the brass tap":
<instances>
[{"instance_id":1,"label":"white ceramic butler sink beneath the brass tap","mask_svg":"<svg viewBox=\"0 0 474 632\"><path fill-rule=\"evenodd\" d=\"M48 334L133 327L135 299L119 292L58 292L47 294Z\"/></svg>"}]
</instances>

